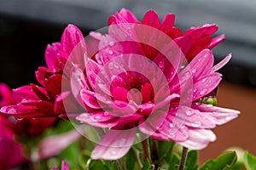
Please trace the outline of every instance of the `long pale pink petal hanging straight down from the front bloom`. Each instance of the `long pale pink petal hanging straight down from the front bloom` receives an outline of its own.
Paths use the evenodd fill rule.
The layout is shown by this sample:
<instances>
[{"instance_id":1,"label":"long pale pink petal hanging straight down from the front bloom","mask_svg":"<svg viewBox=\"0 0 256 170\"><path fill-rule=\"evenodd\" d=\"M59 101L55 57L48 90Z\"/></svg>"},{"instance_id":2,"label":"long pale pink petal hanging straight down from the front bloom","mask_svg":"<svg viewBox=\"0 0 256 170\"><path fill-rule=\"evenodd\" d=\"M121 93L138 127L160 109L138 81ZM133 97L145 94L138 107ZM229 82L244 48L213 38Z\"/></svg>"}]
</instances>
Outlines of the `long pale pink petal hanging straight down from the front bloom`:
<instances>
[{"instance_id":1,"label":"long pale pink petal hanging straight down from the front bloom","mask_svg":"<svg viewBox=\"0 0 256 170\"><path fill-rule=\"evenodd\" d=\"M136 136L136 128L109 130L91 153L91 159L118 160L130 150Z\"/></svg>"}]
</instances>

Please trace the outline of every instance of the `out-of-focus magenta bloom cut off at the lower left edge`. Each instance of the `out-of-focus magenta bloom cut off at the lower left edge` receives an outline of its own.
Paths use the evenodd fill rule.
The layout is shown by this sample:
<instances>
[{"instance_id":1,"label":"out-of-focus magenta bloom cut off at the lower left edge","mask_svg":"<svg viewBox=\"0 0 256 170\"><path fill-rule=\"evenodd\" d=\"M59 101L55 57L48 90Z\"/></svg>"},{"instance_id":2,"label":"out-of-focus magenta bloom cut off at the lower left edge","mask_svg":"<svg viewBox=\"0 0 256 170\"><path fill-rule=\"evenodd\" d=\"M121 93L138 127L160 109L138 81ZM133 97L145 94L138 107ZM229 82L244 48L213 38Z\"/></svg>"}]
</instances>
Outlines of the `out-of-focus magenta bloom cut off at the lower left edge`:
<instances>
[{"instance_id":1,"label":"out-of-focus magenta bloom cut off at the lower left edge","mask_svg":"<svg viewBox=\"0 0 256 170\"><path fill-rule=\"evenodd\" d=\"M12 105L13 98L10 88L0 83L0 107ZM0 169L9 169L19 166L26 159L22 156L21 145L15 142L14 132L6 126L8 120L0 115Z\"/></svg>"}]
</instances>

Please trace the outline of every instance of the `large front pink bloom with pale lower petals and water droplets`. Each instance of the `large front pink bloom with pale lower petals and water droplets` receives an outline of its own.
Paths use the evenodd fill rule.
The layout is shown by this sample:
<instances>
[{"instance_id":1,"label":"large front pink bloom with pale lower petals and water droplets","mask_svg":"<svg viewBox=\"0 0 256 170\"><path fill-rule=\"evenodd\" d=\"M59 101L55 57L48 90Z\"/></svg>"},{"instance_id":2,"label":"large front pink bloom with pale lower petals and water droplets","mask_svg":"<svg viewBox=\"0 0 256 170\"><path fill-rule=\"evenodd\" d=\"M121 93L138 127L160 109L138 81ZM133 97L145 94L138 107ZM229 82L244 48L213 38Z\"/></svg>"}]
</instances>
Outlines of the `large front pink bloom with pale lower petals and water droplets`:
<instances>
[{"instance_id":1,"label":"large front pink bloom with pale lower petals and water droplets","mask_svg":"<svg viewBox=\"0 0 256 170\"><path fill-rule=\"evenodd\" d=\"M152 24L153 19L143 20ZM109 26L108 35L91 35L99 39L99 51L93 59L85 59L85 74L73 72L88 83L72 88L80 90L87 110L77 119L109 128L93 150L93 159L125 156L137 129L154 139L201 150L216 139L211 128L239 114L199 103L218 87L221 74L216 71L229 61L230 54L213 66L212 52L204 49L186 64L180 50L187 48L186 43L177 46L168 34L142 24L117 23ZM71 80L76 81L76 77Z\"/></svg>"}]
</instances>

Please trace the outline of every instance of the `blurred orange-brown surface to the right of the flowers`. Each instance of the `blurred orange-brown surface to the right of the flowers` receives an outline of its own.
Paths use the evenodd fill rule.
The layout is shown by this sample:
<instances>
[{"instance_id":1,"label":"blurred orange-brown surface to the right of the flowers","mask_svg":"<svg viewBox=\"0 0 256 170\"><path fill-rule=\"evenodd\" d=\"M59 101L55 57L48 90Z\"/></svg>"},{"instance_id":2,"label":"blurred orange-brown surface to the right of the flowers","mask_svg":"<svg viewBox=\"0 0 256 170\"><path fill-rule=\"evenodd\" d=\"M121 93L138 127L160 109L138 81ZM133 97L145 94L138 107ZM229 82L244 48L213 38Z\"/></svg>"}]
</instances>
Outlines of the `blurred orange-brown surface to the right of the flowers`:
<instances>
[{"instance_id":1,"label":"blurred orange-brown surface to the right of the flowers","mask_svg":"<svg viewBox=\"0 0 256 170\"><path fill-rule=\"evenodd\" d=\"M241 115L225 125L214 129L217 140L201 150L200 162L216 158L224 150L238 146L256 154L256 89L230 82L218 87L218 106L236 109Z\"/></svg>"}]
</instances>

